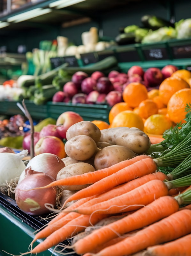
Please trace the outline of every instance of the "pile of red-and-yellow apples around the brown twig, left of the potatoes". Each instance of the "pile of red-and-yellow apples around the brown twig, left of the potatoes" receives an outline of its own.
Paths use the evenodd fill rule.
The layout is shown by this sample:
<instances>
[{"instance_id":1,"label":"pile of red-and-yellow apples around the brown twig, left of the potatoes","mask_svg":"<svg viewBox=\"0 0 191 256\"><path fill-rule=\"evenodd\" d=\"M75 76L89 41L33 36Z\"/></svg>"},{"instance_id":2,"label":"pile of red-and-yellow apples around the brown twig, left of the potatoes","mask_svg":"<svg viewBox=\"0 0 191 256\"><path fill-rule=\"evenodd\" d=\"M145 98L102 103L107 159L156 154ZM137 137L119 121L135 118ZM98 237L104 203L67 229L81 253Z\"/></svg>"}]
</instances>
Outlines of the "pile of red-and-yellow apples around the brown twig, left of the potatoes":
<instances>
[{"instance_id":1,"label":"pile of red-and-yellow apples around the brown twig, left of the potatoes","mask_svg":"<svg viewBox=\"0 0 191 256\"><path fill-rule=\"evenodd\" d=\"M34 132L34 155L51 153L60 158L66 157L65 144L66 131L75 123L83 121L76 112L65 111L56 120L56 124L44 126L40 132ZM31 134L28 132L23 138L23 149L30 153Z\"/></svg>"}]
</instances>

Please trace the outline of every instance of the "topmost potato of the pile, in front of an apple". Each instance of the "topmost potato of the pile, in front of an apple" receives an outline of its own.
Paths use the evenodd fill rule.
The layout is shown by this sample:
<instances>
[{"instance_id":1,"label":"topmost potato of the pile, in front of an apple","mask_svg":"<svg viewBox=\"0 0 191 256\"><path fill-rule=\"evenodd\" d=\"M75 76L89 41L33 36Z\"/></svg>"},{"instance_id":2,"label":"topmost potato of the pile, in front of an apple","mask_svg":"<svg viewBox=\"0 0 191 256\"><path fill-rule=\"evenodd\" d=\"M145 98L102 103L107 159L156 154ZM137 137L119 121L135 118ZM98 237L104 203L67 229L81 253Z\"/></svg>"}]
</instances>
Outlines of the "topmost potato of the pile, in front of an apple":
<instances>
[{"instance_id":1,"label":"topmost potato of the pile, in front of an apple","mask_svg":"<svg viewBox=\"0 0 191 256\"><path fill-rule=\"evenodd\" d=\"M100 129L91 121L81 121L67 129L66 139L69 140L77 135L86 135L98 142L101 137Z\"/></svg>"}]
</instances>

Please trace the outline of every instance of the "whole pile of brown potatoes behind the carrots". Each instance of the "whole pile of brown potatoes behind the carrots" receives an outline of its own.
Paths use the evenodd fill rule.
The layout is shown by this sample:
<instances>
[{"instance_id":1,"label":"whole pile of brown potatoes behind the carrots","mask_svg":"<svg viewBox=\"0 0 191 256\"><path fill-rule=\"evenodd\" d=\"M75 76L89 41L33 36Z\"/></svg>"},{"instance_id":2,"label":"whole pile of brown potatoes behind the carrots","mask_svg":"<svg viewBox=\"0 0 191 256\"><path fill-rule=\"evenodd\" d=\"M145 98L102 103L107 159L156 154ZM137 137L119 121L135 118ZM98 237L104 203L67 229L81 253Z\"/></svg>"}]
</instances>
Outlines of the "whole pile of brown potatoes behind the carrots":
<instances>
[{"instance_id":1,"label":"whole pile of brown potatoes behind the carrots","mask_svg":"<svg viewBox=\"0 0 191 256\"><path fill-rule=\"evenodd\" d=\"M118 162L145 153L150 147L149 137L138 128L108 128L100 130L91 121L81 121L66 132L65 167L57 179L107 168ZM89 186L62 186L77 191Z\"/></svg>"}]
</instances>

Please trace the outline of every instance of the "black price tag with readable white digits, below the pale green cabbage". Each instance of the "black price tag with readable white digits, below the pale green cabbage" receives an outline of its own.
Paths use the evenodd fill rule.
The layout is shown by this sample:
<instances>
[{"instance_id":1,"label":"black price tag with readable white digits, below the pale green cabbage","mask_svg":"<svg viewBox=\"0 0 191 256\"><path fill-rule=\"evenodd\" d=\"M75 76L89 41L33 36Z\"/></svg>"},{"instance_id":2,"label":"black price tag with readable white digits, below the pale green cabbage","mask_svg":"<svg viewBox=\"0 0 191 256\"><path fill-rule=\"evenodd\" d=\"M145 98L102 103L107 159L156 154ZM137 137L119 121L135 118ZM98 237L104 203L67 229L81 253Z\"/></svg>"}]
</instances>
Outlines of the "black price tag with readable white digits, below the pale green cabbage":
<instances>
[{"instance_id":1,"label":"black price tag with readable white digits, below the pale green cabbage","mask_svg":"<svg viewBox=\"0 0 191 256\"><path fill-rule=\"evenodd\" d=\"M168 60L169 56L166 48L143 50L146 61Z\"/></svg>"}]
</instances>

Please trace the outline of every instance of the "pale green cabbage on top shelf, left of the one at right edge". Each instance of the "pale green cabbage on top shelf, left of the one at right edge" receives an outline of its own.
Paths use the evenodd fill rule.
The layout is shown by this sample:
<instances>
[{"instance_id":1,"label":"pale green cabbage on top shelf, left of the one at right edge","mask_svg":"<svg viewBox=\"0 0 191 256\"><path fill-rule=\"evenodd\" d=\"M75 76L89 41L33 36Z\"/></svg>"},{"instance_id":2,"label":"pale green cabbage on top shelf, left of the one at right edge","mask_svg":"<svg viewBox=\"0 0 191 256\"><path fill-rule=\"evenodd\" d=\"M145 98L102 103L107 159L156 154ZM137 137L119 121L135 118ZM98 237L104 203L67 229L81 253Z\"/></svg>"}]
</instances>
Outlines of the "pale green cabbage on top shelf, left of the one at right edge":
<instances>
[{"instance_id":1,"label":"pale green cabbage on top shelf, left of the one at right edge","mask_svg":"<svg viewBox=\"0 0 191 256\"><path fill-rule=\"evenodd\" d=\"M176 30L172 27L163 27L155 31L150 30L141 43L156 43L176 38Z\"/></svg>"}]
</instances>

